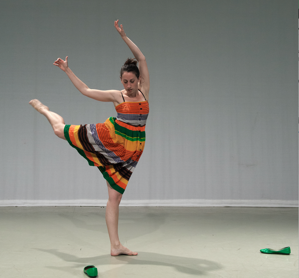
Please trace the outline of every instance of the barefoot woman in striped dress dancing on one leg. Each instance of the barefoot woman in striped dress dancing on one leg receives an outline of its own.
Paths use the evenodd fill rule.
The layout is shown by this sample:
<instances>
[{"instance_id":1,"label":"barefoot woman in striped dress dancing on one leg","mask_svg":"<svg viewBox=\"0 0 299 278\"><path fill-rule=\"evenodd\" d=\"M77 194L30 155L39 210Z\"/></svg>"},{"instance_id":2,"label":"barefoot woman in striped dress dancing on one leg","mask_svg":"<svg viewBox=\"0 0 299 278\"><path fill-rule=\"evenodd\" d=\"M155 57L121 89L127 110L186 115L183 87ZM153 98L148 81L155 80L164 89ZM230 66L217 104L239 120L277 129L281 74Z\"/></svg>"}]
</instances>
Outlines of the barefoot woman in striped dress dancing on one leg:
<instances>
[{"instance_id":1,"label":"barefoot woman in striped dress dancing on one leg","mask_svg":"<svg viewBox=\"0 0 299 278\"><path fill-rule=\"evenodd\" d=\"M106 179L109 195L106 224L111 243L111 255L137 255L136 252L122 246L119 241L118 207L132 171L144 149L145 124L149 113L149 71L145 57L126 36L122 25L118 26L118 20L114 22L114 26L137 60L128 59L121 68L120 78L124 86L123 90L102 91L88 88L70 70L67 57L65 61L58 58L54 65L67 74L83 95L99 101L113 102L117 110L117 118L110 117L104 124L65 125L61 116L49 111L49 108L39 100L33 99L29 103L45 115L59 138L67 140L76 148L87 159L89 165L97 166Z\"/></svg>"}]
</instances>

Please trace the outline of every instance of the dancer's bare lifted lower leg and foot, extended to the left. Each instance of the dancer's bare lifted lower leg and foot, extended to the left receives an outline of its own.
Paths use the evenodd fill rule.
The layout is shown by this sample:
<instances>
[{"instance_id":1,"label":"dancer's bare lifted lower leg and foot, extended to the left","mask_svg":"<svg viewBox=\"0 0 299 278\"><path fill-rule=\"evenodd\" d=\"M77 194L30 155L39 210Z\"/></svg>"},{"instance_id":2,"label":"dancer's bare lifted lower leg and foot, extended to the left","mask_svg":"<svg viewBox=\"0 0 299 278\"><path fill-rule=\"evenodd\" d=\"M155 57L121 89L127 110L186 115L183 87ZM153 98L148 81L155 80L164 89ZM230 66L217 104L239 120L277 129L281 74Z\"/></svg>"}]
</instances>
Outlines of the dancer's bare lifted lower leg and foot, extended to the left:
<instances>
[{"instance_id":1,"label":"dancer's bare lifted lower leg and foot, extended to the left","mask_svg":"<svg viewBox=\"0 0 299 278\"><path fill-rule=\"evenodd\" d=\"M34 109L38 110L39 113L43 114L48 119L49 123L52 125L54 133L59 138L66 140L63 131L65 124L61 116L49 111L49 107L42 104L38 99L32 99L29 104L31 104Z\"/></svg>"}]
</instances>

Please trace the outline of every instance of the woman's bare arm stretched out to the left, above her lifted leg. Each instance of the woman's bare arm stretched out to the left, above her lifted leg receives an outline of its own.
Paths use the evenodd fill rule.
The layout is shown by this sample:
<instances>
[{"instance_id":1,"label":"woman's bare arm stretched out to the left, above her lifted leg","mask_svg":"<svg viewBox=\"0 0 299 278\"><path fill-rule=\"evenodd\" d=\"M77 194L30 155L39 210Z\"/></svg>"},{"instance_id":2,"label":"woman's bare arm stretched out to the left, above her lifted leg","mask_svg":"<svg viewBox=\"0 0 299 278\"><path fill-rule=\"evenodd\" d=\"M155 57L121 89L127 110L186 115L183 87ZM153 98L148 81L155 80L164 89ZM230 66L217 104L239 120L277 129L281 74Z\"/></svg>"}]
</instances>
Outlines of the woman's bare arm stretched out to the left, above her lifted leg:
<instances>
[{"instance_id":1,"label":"woman's bare arm stretched out to the left, above her lifted leg","mask_svg":"<svg viewBox=\"0 0 299 278\"><path fill-rule=\"evenodd\" d=\"M70 78L70 81L72 81L74 86L81 92L81 94L99 101L111 101L113 103L116 102L117 96L119 95L119 91L102 91L88 88L88 86L85 83L83 83L79 78L77 78L77 76L70 70L70 68L68 67L67 58L68 56L65 58L65 61L58 58L53 64L59 67L67 74L67 76Z\"/></svg>"}]
</instances>

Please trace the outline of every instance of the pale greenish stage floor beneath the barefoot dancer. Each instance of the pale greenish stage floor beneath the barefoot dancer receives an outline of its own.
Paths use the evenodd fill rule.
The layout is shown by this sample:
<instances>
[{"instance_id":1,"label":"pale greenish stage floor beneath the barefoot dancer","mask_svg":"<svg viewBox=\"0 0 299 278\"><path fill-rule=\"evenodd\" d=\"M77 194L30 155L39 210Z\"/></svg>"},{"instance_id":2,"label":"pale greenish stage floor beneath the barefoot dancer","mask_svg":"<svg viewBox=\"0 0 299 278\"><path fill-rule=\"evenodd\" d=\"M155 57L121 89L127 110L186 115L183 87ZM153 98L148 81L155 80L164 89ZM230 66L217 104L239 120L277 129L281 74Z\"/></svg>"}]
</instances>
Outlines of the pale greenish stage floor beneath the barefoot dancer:
<instances>
[{"instance_id":1,"label":"pale greenish stage floor beneath the barefoot dancer","mask_svg":"<svg viewBox=\"0 0 299 278\"><path fill-rule=\"evenodd\" d=\"M298 208L121 207L137 256L110 256L101 207L0 208L0 277L298 278ZM290 255L262 248L290 246Z\"/></svg>"}]
</instances>

